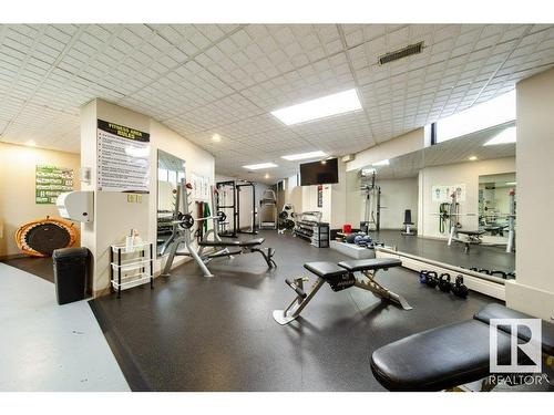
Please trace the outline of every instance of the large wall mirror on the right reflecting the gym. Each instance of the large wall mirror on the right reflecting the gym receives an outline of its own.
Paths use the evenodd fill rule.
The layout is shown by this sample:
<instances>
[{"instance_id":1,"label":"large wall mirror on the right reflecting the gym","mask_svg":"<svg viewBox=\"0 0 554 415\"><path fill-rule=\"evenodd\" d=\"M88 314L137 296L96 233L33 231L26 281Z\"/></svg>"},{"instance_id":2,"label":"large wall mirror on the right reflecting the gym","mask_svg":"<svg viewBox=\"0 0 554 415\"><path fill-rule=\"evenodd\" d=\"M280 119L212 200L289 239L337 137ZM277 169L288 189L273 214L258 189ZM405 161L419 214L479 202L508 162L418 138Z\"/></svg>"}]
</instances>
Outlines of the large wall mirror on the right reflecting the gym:
<instances>
[{"instance_id":1,"label":"large wall mirror on the right reflecting the gym","mask_svg":"<svg viewBox=\"0 0 554 415\"><path fill-rule=\"evenodd\" d=\"M515 143L490 144L513 128L497 125L349 172L348 222L399 251L514 278Z\"/></svg>"}]
</instances>

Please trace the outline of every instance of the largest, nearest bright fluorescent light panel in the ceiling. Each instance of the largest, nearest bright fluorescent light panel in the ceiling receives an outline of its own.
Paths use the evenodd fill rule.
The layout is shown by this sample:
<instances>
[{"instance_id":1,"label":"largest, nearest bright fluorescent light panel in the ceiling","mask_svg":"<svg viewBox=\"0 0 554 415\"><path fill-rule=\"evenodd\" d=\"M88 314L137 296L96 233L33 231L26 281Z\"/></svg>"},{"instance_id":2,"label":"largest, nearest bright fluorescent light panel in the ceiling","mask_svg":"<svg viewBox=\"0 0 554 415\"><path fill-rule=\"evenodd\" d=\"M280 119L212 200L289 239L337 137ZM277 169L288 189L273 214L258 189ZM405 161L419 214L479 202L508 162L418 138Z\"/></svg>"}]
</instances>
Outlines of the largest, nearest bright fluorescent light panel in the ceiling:
<instances>
[{"instance_id":1,"label":"largest, nearest bright fluorescent light panel in the ceiling","mask_svg":"<svg viewBox=\"0 0 554 415\"><path fill-rule=\"evenodd\" d=\"M358 94L356 90L348 90L273 111L271 115L286 125L294 125L358 110L361 110Z\"/></svg>"}]
</instances>

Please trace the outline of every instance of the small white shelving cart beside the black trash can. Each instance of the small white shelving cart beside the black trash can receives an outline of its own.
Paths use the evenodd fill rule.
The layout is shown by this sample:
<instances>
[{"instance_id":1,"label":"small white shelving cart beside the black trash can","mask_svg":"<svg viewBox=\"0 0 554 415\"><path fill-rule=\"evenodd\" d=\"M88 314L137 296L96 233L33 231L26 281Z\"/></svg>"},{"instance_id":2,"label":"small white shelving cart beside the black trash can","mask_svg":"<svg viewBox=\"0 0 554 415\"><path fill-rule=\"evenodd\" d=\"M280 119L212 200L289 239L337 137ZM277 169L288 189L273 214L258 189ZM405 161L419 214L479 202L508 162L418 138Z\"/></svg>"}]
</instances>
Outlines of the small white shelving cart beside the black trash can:
<instances>
[{"instance_id":1,"label":"small white shelving cart beside the black trash can","mask_svg":"<svg viewBox=\"0 0 554 415\"><path fill-rule=\"evenodd\" d=\"M111 286L121 298L121 291L150 282L154 288L154 257L151 242L134 245L127 249L124 243L112 245L110 249Z\"/></svg>"}]
</instances>

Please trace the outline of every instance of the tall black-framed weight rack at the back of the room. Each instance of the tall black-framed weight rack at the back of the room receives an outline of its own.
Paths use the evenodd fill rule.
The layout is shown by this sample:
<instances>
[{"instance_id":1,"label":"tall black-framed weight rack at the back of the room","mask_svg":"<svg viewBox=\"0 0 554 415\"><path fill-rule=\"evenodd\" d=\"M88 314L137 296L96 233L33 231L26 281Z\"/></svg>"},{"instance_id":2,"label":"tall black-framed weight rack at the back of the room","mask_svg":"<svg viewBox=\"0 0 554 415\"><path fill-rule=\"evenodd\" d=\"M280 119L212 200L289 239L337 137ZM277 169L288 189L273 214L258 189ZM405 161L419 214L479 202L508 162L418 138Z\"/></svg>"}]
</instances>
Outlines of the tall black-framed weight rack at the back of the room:
<instances>
[{"instance_id":1,"label":"tall black-framed weight rack at the back of the room","mask_svg":"<svg viewBox=\"0 0 554 415\"><path fill-rule=\"evenodd\" d=\"M240 191L243 188L249 187L252 189L252 216L250 227L247 230L240 227ZM218 224L218 231L220 236L236 238L238 234L256 235L256 186L247 180L226 180L216 183L216 197L215 207L216 211L228 211L227 217L233 219L233 228L226 229L228 222ZM230 194L230 200L229 200Z\"/></svg>"}]
</instances>

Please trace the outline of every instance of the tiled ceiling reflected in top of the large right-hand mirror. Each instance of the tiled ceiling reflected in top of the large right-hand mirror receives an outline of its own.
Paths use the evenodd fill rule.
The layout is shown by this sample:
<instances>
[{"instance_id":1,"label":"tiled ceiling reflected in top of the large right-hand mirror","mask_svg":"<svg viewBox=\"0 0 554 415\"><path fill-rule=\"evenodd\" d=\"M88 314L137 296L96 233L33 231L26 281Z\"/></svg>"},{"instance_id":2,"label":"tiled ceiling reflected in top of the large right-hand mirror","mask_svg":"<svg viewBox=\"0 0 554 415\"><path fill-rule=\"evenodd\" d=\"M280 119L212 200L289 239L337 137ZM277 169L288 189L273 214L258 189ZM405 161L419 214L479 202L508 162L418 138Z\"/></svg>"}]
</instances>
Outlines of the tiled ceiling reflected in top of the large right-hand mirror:
<instances>
[{"instance_id":1,"label":"tiled ceiling reflected in top of the large right-hand mirror","mask_svg":"<svg viewBox=\"0 0 554 415\"><path fill-rule=\"evenodd\" d=\"M423 167L473 163L469 160L471 156L478 157L479 160L515 157L515 143L484 146L489 139L514 125L506 123L392 158L388 166L376 167L377 178L417 177Z\"/></svg>"}]
</instances>

